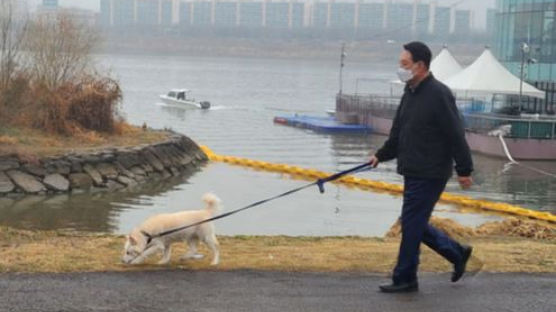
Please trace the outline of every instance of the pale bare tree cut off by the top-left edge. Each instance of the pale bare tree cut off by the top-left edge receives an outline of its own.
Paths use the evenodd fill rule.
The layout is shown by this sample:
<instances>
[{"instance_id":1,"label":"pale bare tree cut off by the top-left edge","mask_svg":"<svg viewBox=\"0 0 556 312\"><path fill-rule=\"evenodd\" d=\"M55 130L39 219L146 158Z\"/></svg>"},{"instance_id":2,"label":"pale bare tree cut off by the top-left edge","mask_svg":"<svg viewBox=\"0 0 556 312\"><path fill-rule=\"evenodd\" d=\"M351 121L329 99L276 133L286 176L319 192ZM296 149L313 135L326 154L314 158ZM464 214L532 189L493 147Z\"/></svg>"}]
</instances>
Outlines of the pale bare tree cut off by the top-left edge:
<instances>
[{"instance_id":1,"label":"pale bare tree cut off by the top-left edge","mask_svg":"<svg viewBox=\"0 0 556 312\"><path fill-rule=\"evenodd\" d=\"M27 18L17 0L0 0L0 89L8 86L21 56Z\"/></svg>"}]
</instances>

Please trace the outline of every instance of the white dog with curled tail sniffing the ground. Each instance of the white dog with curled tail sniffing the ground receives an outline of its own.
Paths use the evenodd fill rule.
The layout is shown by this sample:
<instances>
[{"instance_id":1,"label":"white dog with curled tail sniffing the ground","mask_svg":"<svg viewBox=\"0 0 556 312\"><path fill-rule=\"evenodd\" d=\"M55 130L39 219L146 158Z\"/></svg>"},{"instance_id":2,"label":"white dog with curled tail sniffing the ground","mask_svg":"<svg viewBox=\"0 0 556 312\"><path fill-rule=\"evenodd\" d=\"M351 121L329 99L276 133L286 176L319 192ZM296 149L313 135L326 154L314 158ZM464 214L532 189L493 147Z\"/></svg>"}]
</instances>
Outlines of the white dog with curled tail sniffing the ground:
<instances>
[{"instance_id":1,"label":"white dog with curled tail sniffing the ground","mask_svg":"<svg viewBox=\"0 0 556 312\"><path fill-rule=\"evenodd\" d=\"M203 257L203 255L197 253L197 243L200 240L212 251L211 265L217 265L220 261L220 251L212 222L206 222L172 234L153 237L149 243L147 243L147 235L143 234L147 233L155 236L158 233L214 216L220 206L220 199L214 194L207 193L203 195L203 201L205 202L205 209L156 215L133 229L131 234L127 236L122 261L131 264L142 263L148 256L161 251L163 256L158 263L167 264L170 262L171 256L170 245L176 241L187 241L188 244L188 251L180 259L200 259Z\"/></svg>"}]
</instances>

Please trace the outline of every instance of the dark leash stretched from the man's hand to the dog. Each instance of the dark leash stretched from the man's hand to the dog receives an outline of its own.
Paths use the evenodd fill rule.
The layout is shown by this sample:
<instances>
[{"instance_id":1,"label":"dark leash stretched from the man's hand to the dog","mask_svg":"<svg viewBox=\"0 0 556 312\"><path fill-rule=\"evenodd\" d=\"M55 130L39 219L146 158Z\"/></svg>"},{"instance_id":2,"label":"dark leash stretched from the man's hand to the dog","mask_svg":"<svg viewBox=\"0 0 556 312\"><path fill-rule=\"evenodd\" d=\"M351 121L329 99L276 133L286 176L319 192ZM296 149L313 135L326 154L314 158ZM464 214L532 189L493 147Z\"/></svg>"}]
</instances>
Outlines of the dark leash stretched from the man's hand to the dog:
<instances>
[{"instance_id":1,"label":"dark leash stretched from the man's hand to the dog","mask_svg":"<svg viewBox=\"0 0 556 312\"><path fill-rule=\"evenodd\" d=\"M333 174L333 175L331 175L331 176L329 176L329 177L326 177L326 178L323 178L323 179L318 179L317 181L315 181L315 182L313 182L313 183L309 183L309 184L306 184L306 185L304 185L304 186L295 188L295 189L293 189L293 190L289 190L289 191L287 191L287 192L284 192L284 193L282 193L282 194L279 194L279 195L276 195L276 196L273 196L273 197L270 197L270 198L267 198L267 199L260 200L260 201L258 201L258 202L252 203L252 204L250 204L250 205L248 205L248 206L245 206L245 207L243 207L243 208L239 208L239 209L236 209L236 210L232 210L232 211L229 211L229 212L226 212L226 213L223 213L223 214L214 216L214 217L212 217L212 218L205 219L205 220L201 220L201 221L199 221L199 222L195 222L195 223L192 223L192 224L188 224L188 225L185 225L185 226L181 226L181 227L178 227L178 228L175 228L175 229L171 229L171 230L168 230L168 231L160 232L160 233L158 233L158 234L151 235L151 234L149 234L149 233L147 233L147 232L145 232L145 231L141 231L141 233L142 233L143 235L145 235L145 237L147 237L147 245L148 245L148 244L153 240L153 238L162 237L162 236L165 236L165 235L169 235L169 234L172 234L172 233L176 233L176 232L179 232L179 231L183 231L183 230L188 229L188 228L190 228L190 227L194 227L194 226L197 226L197 225L201 225L201 224L206 223L206 222L210 222L210 221L222 219L222 218L225 218L225 217L227 217L227 216L231 216L231 215L233 215L233 214L236 214L236 213L238 213L238 212L240 212L240 211L247 210L247 209L249 209L249 208L253 208L253 207L255 207L255 206L262 205L262 204L264 204L264 203L266 203L266 202L269 202L269 201L271 201L271 200L275 200L275 199L278 199L278 198L280 198L280 197L284 197L284 196L287 196L287 195L290 195L290 194L299 192L299 191L301 191L301 190L303 190L303 189L306 189L306 188L309 188L309 187L311 187L311 186L313 186L313 185L317 185L317 186L319 187L319 191L320 191L321 194L322 194L322 193L324 193L324 183L337 180L337 179L341 178L342 176L345 176L346 174L350 174L350 173L352 173L352 172L362 171L362 170L364 170L364 169L367 169L367 167L370 167L370 166L371 166L371 163L370 163L370 162L364 163L364 164L362 164L362 165L353 167L353 168L351 168L351 169L338 172L338 173Z\"/></svg>"}]
</instances>

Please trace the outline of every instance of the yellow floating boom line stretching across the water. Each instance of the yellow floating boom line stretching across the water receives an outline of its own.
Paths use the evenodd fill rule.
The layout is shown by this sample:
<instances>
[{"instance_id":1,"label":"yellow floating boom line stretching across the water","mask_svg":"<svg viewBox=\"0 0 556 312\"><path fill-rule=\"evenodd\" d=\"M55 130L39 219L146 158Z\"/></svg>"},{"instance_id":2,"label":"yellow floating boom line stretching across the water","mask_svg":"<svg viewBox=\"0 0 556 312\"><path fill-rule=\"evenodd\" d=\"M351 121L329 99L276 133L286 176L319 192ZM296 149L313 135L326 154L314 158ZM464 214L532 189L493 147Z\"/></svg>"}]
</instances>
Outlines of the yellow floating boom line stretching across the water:
<instances>
[{"instance_id":1,"label":"yellow floating boom line stretching across the water","mask_svg":"<svg viewBox=\"0 0 556 312\"><path fill-rule=\"evenodd\" d=\"M269 163L260 160L253 160L248 158L240 158L234 156L222 156L216 155L212 150L206 146L201 146L203 152L211 161L225 162L232 165L250 167L254 169L270 171L270 172L280 172L291 175L293 178L304 179L304 180L315 180L326 178L332 173L305 169L296 166L290 166L286 164L276 164ZM345 176L333 183L345 184L347 186L358 187L364 190L373 190L379 192L388 192L393 194L402 194L403 186L398 184L386 183L381 181L373 181L369 179L357 178L355 176ZM511 214L522 217L528 217L537 220L543 220L548 222L556 223L556 215L549 212L535 211L531 209L526 209L523 207L510 205L507 203L497 203L488 200L473 199L469 196L451 194L444 192L440 197L440 201L444 203L456 204L461 207L473 208L494 211L503 214Z\"/></svg>"}]
</instances>

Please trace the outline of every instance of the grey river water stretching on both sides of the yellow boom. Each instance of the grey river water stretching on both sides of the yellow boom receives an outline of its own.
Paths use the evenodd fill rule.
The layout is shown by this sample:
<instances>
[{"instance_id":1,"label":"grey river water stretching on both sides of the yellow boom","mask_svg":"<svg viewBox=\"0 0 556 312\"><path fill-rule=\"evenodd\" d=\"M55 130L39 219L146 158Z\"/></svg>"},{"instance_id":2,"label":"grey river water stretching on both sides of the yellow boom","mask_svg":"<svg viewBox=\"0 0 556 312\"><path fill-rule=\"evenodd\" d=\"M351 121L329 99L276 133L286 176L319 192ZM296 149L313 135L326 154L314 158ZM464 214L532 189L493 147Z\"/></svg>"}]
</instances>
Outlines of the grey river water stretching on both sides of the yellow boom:
<instances>
[{"instance_id":1,"label":"grey river water stretching on both sides of the yellow boom","mask_svg":"<svg viewBox=\"0 0 556 312\"><path fill-rule=\"evenodd\" d=\"M380 135L328 135L273 123L276 115L324 115L334 108L335 60L144 55L98 55L97 60L120 81L122 111L130 123L171 128L217 154L334 172L366 161L385 140ZM348 62L344 90L353 92L356 78L370 78L359 84L359 91L387 93L396 66ZM172 88L191 89L193 97L210 101L212 108L184 110L161 104L159 94ZM509 166L503 159L474 155L474 161L477 184L462 192L452 180L447 191L556 212L556 179ZM553 162L528 164L556 172ZM402 181L394 162L359 176ZM152 214L200 208L200 197L207 191L221 197L226 211L305 183L277 173L209 163L185 177L126 192L0 199L0 224L126 233ZM330 184L325 194L304 190L219 220L216 228L228 235L383 235L399 216L400 205L397 196ZM467 225L499 219L451 205L438 205L435 215Z\"/></svg>"}]
</instances>

